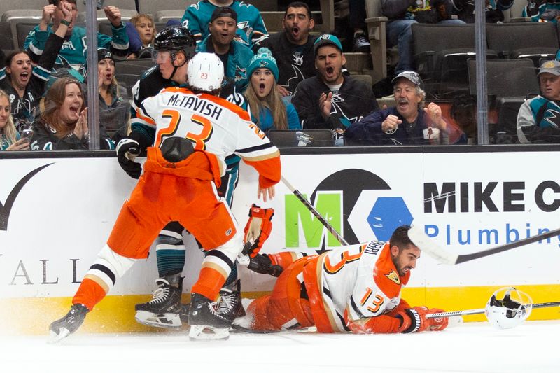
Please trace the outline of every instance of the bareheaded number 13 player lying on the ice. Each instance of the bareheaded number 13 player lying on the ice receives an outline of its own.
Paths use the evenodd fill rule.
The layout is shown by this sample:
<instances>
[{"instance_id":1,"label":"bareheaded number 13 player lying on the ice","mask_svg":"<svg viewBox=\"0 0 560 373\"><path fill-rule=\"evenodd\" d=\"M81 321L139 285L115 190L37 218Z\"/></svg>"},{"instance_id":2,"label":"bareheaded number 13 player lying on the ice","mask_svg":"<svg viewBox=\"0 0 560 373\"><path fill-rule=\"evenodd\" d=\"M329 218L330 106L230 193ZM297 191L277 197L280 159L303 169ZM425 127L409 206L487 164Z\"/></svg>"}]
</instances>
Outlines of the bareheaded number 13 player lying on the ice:
<instances>
[{"instance_id":1,"label":"bareheaded number 13 player lying on the ice","mask_svg":"<svg viewBox=\"0 0 560 373\"><path fill-rule=\"evenodd\" d=\"M398 227L388 242L342 246L303 258L292 252L257 255L249 269L281 274L272 294L254 300L247 316L234 324L262 331L315 325L324 333L443 330L447 318L426 318L443 310L410 307L400 298L421 253L408 230Z\"/></svg>"}]
</instances>

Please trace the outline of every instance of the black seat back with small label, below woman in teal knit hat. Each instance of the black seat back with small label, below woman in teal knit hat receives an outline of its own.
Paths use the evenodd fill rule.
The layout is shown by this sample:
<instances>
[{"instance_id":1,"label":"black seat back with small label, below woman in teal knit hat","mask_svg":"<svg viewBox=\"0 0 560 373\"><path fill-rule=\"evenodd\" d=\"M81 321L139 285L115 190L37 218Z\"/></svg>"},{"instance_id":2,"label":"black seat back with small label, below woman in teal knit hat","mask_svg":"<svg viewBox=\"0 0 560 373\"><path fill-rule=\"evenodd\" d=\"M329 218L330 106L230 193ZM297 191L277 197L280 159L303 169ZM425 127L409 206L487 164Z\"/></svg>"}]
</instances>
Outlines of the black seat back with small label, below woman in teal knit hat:
<instances>
[{"instance_id":1,"label":"black seat back with small label, below woman in teal knit hat","mask_svg":"<svg viewBox=\"0 0 560 373\"><path fill-rule=\"evenodd\" d=\"M335 145L330 129L269 129L267 136L279 148Z\"/></svg>"}]
</instances>

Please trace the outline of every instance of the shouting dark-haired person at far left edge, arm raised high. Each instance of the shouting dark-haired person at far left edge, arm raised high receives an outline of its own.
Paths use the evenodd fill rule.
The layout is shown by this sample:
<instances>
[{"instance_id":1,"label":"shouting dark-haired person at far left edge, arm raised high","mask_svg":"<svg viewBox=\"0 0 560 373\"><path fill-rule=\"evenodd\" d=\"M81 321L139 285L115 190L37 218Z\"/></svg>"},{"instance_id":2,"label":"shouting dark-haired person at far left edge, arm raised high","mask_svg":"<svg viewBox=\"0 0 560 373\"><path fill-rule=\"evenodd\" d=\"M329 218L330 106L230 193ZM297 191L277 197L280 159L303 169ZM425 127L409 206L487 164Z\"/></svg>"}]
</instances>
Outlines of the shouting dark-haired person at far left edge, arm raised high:
<instances>
[{"instance_id":1,"label":"shouting dark-haired person at far left edge, arm raised high","mask_svg":"<svg viewBox=\"0 0 560 373\"><path fill-rule=\"evenodd\" d=\"M67 2L62 3L60 11L61 20L69 22L73 17L71 6ZM56 32L48 36L38 66L31 66L31 55L25 50L15 50L0 62L0 88L10 97L12 116L18 132L29 127L36 118L39 101L45 92L45 84L55 66L67 29L66 24L60 24Z\"/></svg>"}]
</instances>

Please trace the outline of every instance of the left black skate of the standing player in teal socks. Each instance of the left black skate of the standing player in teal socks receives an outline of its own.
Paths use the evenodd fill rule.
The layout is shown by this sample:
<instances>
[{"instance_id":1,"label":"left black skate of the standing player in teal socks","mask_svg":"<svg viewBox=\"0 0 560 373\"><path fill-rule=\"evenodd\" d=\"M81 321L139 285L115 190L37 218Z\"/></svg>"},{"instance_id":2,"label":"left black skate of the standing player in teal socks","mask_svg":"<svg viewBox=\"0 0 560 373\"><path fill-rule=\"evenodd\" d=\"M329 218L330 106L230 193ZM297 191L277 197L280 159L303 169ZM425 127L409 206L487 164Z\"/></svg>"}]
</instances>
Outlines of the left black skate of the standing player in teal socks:
<instances>
[{"instance_id":1,"label":"left black skate of the standing player in teal socks","mask_svg":"<svg viewBox=\"0 0 560 373\"><path fill-rule=\"evenodd\" d=\"M134 318L144 325L158 328L181 327L181 293L183 278L179 279L179 287L172 286L166 279L157 279L158 288L153 292L152 300L137 304Z\"/></svg>"}]
</instances>

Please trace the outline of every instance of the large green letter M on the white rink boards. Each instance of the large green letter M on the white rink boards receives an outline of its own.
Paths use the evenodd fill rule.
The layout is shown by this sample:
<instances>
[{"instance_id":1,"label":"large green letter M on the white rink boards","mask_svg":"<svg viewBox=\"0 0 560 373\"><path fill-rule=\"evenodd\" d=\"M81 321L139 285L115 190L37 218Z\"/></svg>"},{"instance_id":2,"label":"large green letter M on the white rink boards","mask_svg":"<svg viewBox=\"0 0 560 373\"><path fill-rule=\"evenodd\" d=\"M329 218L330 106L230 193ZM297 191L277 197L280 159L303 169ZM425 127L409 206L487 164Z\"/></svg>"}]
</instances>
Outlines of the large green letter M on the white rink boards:
<instances>
[{"instance_id":1,"label":"large green letter M on the white rink boards","mask_svg":"<svg viewBox=\"0 0 560 373\"><path fill-rule=\"evenodd\" d=\"M305 196L307 197L307 196ZM326 236L325 246L341 246L323 224L313 216L311 211L295 195L286 195L285 225L286 248L300 246L300 234L303 234L308 248L321 248ZM340 192L317 192L314 207L335 228L342 232L342 195Z\"/></svg>"}]
</instances>

